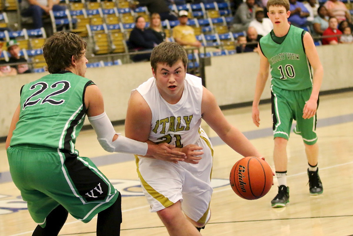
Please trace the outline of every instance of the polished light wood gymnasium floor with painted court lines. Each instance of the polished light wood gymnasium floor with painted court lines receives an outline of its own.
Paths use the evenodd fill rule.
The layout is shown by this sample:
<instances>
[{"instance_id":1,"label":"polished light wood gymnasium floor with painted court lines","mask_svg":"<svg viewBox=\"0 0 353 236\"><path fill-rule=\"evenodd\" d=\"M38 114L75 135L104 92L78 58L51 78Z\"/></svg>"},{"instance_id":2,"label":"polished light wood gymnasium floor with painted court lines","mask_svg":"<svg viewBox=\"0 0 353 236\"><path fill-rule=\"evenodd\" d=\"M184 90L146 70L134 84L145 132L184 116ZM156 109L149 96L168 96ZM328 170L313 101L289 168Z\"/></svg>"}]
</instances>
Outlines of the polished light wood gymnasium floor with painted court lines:
<instances>
[{"instance_id":1,"label":"polished light wood gymnasium floor with painted court lines","mask_svg":"<svg viewBox=\"0 0 353 236\"><path fill-rule=\"evenodd\" d=\"M214 145L212 216L201 231L205 236L228 235L339 235L353 234L353 92L324 95L318 109L319 173L324 186L320 196L310 196L307 161L300 136L291 134L288 143L288 185L290 205L273 209L270 201L277 193L277 182L258 200L238 197L229 186L229 171L241 158L225 145L207 124L203 129ZM270 104L260 106L261 125L252 124L251 107L225 110L227 119L251 139L274 167ZM115 127L124 133L123 126ZM102 172L121 191L122 236L168 235L156 213L149 212L131 155L105 152L94 131L80 133L77 147L81 156L91 157ZM20 193L11 181L5 143L0 143L0 235L31 235L36 227ZM59 235L93 236L96 218L78 222L69 215Z\"/></svg>"}]
</instances>

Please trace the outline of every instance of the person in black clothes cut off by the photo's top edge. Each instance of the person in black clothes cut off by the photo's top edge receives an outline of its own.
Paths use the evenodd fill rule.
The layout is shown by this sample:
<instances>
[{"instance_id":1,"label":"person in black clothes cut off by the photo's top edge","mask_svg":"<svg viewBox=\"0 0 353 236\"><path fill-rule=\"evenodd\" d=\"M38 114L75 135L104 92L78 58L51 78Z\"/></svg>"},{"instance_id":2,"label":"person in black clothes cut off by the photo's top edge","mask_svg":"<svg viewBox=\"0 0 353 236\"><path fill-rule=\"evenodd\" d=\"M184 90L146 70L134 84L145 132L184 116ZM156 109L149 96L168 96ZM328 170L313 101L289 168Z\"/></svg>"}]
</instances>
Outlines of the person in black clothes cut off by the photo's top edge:
<instances>
[{"instance_id":1,"label":"person in black clothes cut off by the photo's top edge","mask_svg":"<svg viewBox=\"0 0 353 236\"><path fill-rule=\"evenodd\" d=\"M151 14L160 14L161 20L178 20L174 12L170 11L165 0L138 0L131 5L131 8L142 6L146 6Z\"/></svg>"}]
</instances>

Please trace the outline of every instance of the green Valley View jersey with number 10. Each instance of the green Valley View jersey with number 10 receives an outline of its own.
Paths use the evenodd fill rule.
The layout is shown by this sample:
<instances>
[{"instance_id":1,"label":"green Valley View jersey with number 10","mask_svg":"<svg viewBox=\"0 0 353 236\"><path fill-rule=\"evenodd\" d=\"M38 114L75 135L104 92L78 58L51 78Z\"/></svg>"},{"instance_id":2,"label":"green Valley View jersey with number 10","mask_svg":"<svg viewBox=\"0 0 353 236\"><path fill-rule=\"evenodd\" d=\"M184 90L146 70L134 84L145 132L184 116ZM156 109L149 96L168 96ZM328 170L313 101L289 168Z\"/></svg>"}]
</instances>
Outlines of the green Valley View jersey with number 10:
<instances>
[{"instance_id":1,"label":"green Valley View jersey with number 10","mask_svg":"<svg viewBox=\"0 0 353 236\"><path fill-rule=\"evenodd\" d=\"M311 66L303 43L305 32L291 25L286 36L278 38L271 31L260 39L261 51L271 66L272 85L287 90L312 87Z\"/></svg>"}]
</instances>

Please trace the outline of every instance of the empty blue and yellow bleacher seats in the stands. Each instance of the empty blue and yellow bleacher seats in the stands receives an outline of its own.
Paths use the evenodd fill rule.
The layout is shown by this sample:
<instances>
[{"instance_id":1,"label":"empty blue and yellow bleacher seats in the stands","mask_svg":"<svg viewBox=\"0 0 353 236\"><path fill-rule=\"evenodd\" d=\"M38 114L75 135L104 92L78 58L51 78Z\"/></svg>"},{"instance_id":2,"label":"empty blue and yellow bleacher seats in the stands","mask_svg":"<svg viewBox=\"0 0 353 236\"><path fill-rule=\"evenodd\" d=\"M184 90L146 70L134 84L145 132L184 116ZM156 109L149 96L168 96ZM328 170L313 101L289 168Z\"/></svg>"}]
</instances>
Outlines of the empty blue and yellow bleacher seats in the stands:
<instances>
[{"instance_id":1,"label":"empty blue and yellow bleacher seats in the stands","mask_svg":"<svg viewBox=\"0 0 353 236\"><path fill-rule=\"evenodd\" d=\"M326 0L319 0L324 3ZM82 37L88 37L89 47L94 54L124 54L128 52L126 41L130 31L135 26L134 20L142 15L149 24L149 12L147 7L130 8L130 0L60 0L60 4L66 4L67 10L50 11L52 31L60 30L77 33ZM347 0L344 0L347 2ZM228 0L203 0L201 3L187 3L185 0L174 0L169 8L177 13L180 10L189 12L188 25L195 30L196 37L203 46L213 46L221 51L212 52L207 56L223 56L235 54L235 46L239 35L245 32L232 33L229 31L233 17L231 15L231 1ZM0 2L0 27L8 27L6 11L18 11L15 0ZM5 12L4 12L5 11ZM353 9L350 10L353 15ZM179 21L162 21L163 30L169 41L172 37L173 27L179 25ZM20 24L19 24L20 26ZM311 33L310 28L305 27ZM24 49L22 55L34 62L36 72L43 70L43 55L39 50L46 39L46 32L42 29L19 29L14 31L0 31L0 41L6 42L16 38L20 48ZM315 42L316 46L321 45ZM5 47L4 47L5 48ZM38 51L39 50L39 51ZM3 51L2 58L8 59L8 54ZM200 54L201 56L201 54ZM203 55L205 56L205 55ZM103 66L110 66L114 61L103 62ZM92 67L102 65L93 63ZM198 66L198 61L190 64L192 68Z\"/></svg>"}]
</instances>

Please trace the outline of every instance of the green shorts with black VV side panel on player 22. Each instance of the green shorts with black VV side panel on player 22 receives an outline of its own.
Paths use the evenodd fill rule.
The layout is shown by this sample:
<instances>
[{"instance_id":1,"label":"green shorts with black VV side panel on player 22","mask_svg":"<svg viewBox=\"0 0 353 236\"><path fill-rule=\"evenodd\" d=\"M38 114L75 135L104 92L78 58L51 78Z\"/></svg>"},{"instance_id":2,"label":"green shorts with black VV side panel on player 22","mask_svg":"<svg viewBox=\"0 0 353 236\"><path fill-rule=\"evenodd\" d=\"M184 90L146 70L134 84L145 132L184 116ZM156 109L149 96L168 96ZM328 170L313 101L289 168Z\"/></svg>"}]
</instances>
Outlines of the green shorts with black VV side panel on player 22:
<instances>
[{"instance_id":1,"label":"green shorts with black VV side panel on player 22","mask_svg":"<svg viewBox=\"0 0 353 236\"><path fill-rule=\"evenodd\" d=\"M13 182L27 202L31 217L42 227L59 204L87 223L119 196L87 157L32 144L9 147L7 157Z\"/></svg>"}]
</instances>

